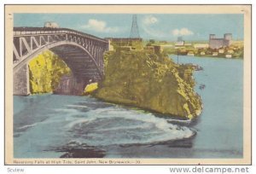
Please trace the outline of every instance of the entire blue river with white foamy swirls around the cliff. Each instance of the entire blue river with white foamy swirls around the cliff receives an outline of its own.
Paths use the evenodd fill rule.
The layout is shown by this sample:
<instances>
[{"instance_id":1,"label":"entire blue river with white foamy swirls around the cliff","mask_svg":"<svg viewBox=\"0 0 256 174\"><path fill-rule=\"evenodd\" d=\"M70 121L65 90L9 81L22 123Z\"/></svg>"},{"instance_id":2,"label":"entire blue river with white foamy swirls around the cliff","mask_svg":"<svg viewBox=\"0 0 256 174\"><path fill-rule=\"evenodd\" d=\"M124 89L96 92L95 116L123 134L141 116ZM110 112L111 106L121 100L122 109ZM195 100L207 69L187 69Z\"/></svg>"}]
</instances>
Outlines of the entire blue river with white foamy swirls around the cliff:
<instances>
[{"instance_id":1,"label":"entire blue river with white foamy swirls around the cliff","mask_svg":"<svg viewBox=\"0 0 256 174\"><path fill-rule=\"evenodd\" d=\"M204 108L194 122L90 96L14 96L15 158L242 158L243 61L178 61L204 68L195 72Z\"/></svg>"}]
</instances>

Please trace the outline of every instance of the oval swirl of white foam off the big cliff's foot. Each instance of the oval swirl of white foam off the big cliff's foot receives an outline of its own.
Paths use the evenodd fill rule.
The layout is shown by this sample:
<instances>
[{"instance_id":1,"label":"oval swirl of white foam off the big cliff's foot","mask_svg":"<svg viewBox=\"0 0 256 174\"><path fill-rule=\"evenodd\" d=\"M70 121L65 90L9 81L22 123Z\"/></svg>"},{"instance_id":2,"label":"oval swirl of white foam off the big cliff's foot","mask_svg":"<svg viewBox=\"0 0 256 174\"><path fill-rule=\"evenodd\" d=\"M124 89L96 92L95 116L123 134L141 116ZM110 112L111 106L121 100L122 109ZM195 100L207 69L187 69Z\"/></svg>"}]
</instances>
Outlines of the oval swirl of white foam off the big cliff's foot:
<instances>
[{"instance_id":1,"label":"oval swirl of white foam off the big cliff's foot","mask_svg":"<svg viewBox=\"0 0 256 174\"><path fill-rule=\"evenodd\" d=\"M168 123L166 119L157 118L152 113L138 113L121 107L98 108L87 114L88 118L74 120L67 125L67 129L75 128L80 130L80 134L89 126L90 130L84 132L84 142L95 146L166 142L189 138L195 134L188 127ZM104 125L102 128L102 125L97 125L99 120L106 120L109 127ZM83 138L81 135L80 139Z\"/></svg>"}]
</instances>

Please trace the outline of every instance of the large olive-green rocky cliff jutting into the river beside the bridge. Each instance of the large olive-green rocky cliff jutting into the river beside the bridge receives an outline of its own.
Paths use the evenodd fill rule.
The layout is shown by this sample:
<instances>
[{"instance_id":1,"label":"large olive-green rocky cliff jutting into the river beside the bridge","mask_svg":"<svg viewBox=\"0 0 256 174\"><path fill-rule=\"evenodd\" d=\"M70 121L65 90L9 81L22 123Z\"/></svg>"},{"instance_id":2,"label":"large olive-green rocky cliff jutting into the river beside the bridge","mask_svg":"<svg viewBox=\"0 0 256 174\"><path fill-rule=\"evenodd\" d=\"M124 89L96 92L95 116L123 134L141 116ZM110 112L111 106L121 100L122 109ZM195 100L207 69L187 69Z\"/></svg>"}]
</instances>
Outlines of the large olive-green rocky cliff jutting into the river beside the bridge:
<instances>
[{"instance_id":1,"label":"large olive-green rocky cliff jutting into the river beside the bridge","mask_svg":"<svg viewBox=\"0 0 256 174\"><path fill-rule=\"evenodd\" d=\"M112 51L104 61L105 78L96 97L183 119L201 113L201 98L193 89L193 67L179 66L165 55L145 51Z\"/></svg>"}]
</instances>

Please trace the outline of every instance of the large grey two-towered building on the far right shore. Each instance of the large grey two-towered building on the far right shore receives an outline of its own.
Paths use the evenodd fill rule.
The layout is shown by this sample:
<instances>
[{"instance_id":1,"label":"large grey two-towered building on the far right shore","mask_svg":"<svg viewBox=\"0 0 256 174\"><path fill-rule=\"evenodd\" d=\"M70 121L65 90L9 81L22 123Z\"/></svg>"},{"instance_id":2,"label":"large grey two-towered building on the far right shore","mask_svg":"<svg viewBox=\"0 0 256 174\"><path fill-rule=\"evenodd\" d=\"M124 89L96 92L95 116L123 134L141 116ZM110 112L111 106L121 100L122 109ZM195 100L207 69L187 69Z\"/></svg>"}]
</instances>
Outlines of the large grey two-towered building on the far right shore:
<instances>
[{"instance_id":1,"label":"large grey two-towered building on the far right shore","mask_svg":"<svg viewBox=\"0 0 256 174\"><path fill-rule=\"evenodd\" d=\"M209 35L209 47L211 49L219 49L230 46L232 41L232 34L225 33L224 38L216 38L215 34Z\"/></svg>"}]
</instances>

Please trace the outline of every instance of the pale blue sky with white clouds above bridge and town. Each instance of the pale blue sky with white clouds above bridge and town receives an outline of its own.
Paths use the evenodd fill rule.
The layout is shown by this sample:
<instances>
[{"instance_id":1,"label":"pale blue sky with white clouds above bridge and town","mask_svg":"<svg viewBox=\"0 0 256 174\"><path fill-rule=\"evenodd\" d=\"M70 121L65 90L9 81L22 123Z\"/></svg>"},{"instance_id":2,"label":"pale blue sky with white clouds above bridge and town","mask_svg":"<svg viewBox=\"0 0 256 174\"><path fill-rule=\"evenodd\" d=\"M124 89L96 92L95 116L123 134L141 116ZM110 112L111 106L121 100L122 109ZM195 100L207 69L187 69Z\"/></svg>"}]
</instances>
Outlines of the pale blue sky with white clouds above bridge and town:
<instances>
[{"instance_id":1,"label":"pale blue sky with white clouds above bridge and town","mask_svg":"<svg viewBox=\"0 0 256 174\"><path fill-rule=\"evenodd\" d=\"M45 21L100 38L129 38L132 14L15 14L14 26L38 27ZM144 39L207 40L210 33L223 38L227 32L234 39L244 36L243 14L137 14L137 25Z\"/></svg>"}]
</instances>

